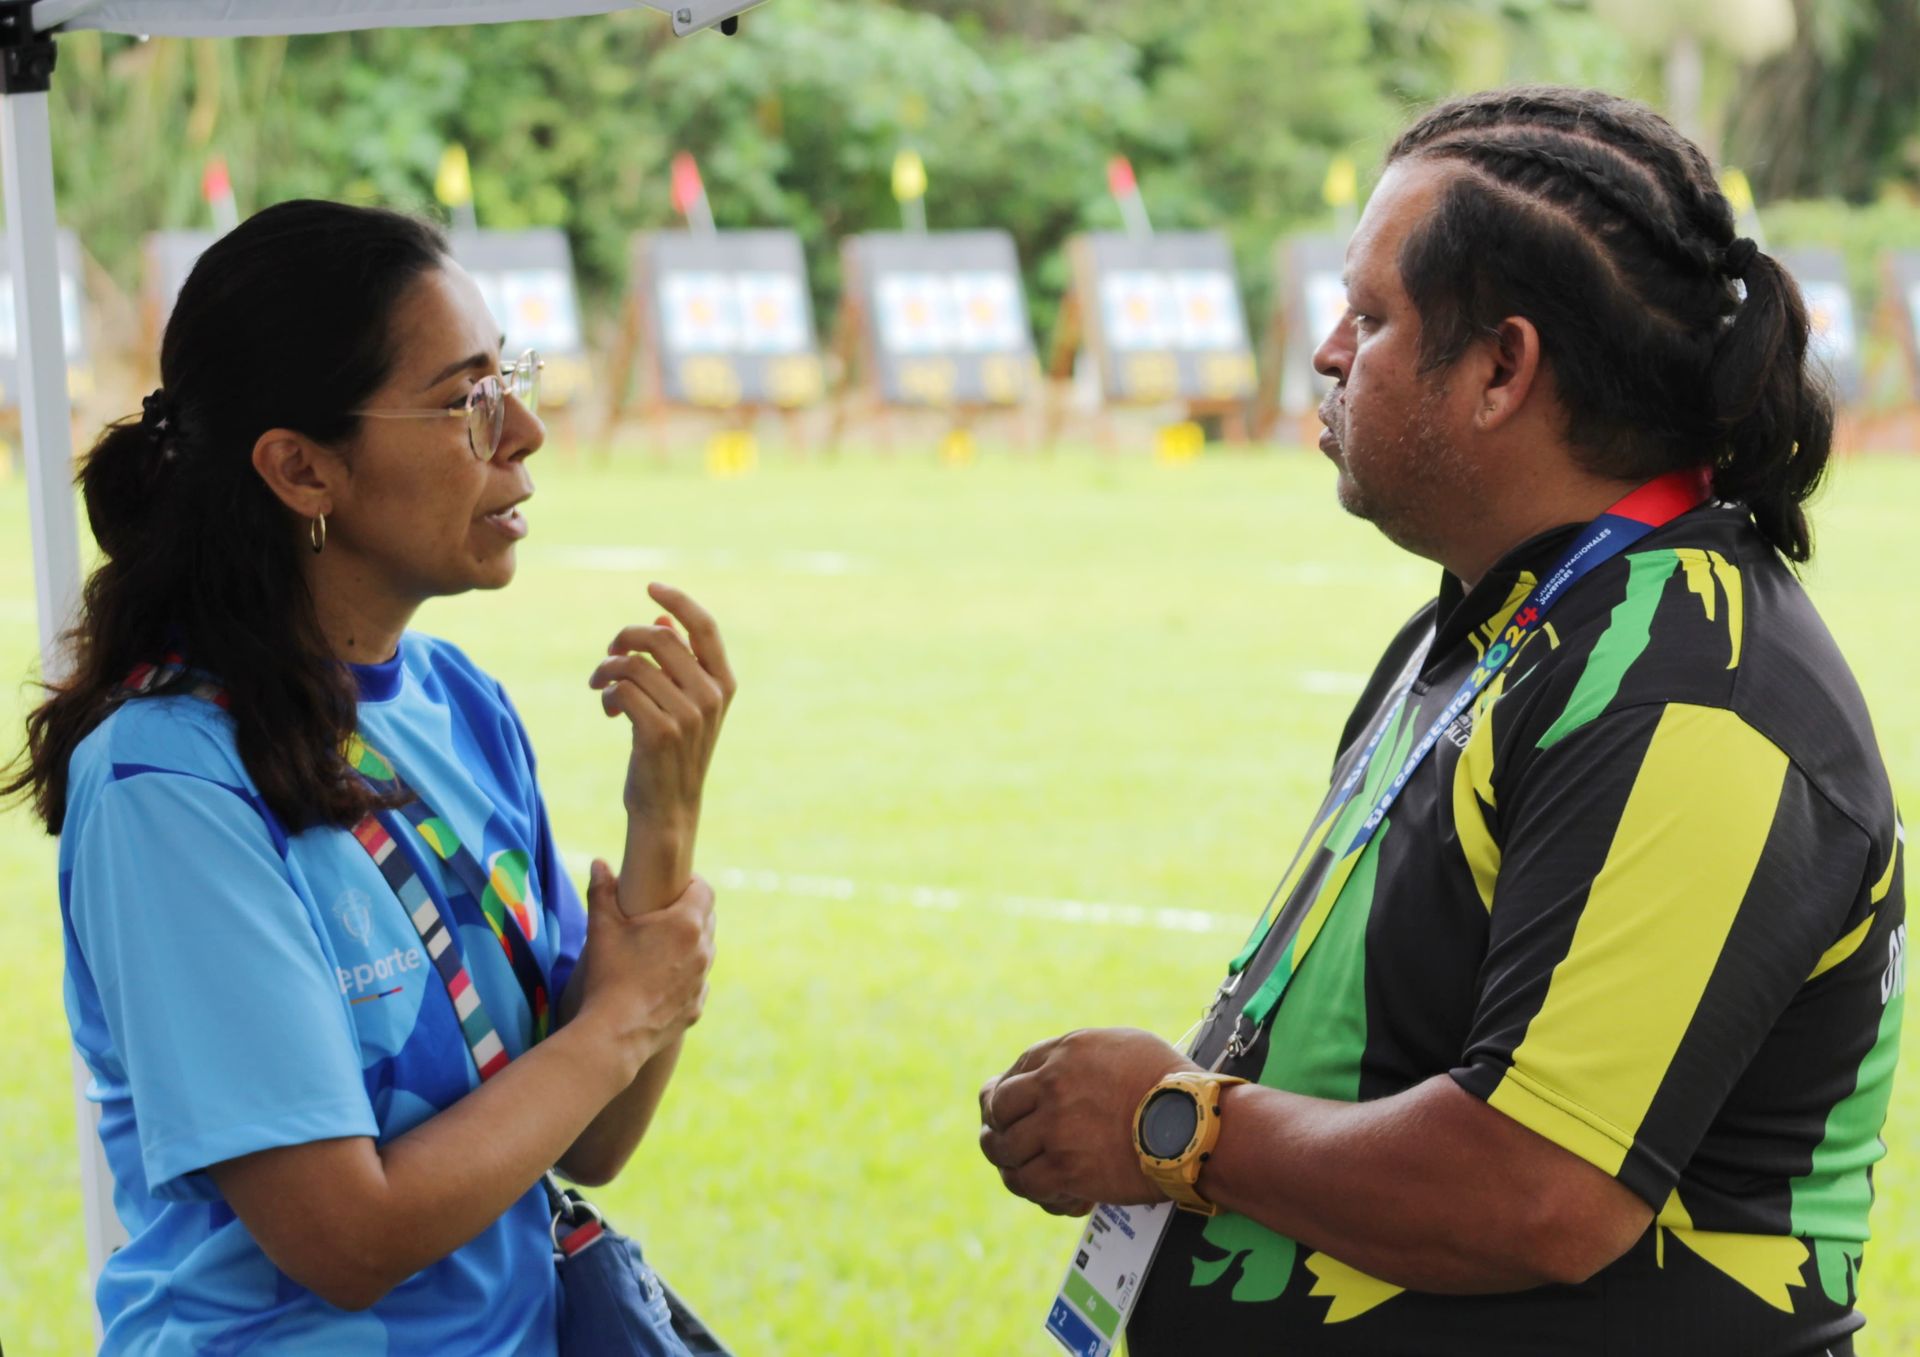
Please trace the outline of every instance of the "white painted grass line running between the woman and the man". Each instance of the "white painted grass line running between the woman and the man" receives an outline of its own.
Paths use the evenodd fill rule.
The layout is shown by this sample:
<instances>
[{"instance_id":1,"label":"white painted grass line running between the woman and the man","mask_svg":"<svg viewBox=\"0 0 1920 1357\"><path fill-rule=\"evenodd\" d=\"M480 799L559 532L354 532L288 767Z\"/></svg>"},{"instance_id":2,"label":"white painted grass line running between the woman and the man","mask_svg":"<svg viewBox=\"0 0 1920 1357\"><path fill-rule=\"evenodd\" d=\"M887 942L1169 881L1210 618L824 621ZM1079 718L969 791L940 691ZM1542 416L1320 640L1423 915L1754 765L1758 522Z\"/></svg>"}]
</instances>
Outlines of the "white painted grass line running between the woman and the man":
<instances>
[{"instance_id":1,"label":"white painted grass line running between the woman and the man","mask_svg":"<svg viewBox=\"0 0 1920 1357\"><path fill-rule=\"evenodd\" d=\"M561 860L576 877L586 877L593 858L582 852L563 852ZM1012 919L1044 919L1048 923L1092 923L1114 929L1148 929L1154 933L1244 933L1248 919L1206 910L1175 910L1169 906L1116 904L1112 900L1058 900L1033 894L991 894L958 887L862 883L852 877L768 871L751 868L720 868L707 873L714 891L745 891L774 894L785 900L818 904L870 902L952 914L996 914Z\"/></svg>"}]
</instances>

